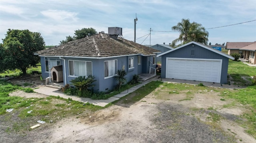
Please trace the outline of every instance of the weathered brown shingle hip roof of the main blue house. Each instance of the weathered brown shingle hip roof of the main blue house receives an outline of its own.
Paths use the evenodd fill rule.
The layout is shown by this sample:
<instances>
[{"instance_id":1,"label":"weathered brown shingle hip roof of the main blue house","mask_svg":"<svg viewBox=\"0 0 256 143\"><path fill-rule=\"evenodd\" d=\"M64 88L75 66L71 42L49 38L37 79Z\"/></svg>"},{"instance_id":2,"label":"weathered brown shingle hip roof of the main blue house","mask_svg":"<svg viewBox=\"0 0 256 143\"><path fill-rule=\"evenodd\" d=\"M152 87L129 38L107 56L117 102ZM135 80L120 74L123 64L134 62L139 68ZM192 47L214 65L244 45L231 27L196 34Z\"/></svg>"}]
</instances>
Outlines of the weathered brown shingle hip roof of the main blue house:
<instances>
[{"instance_id":1,"label":"weathered brown shingle hip roof of the main blue house","mask_svg":"<svg viewBox=\"0 0 256 143\"><path fill-rule=\"evenodd\" d=\"M37 51L34 55L104 59L124 55L148 56L160 52L121 37L111 37L107 34L99 33L70 41L58 47Z\"/></svg>"}]
</instances>

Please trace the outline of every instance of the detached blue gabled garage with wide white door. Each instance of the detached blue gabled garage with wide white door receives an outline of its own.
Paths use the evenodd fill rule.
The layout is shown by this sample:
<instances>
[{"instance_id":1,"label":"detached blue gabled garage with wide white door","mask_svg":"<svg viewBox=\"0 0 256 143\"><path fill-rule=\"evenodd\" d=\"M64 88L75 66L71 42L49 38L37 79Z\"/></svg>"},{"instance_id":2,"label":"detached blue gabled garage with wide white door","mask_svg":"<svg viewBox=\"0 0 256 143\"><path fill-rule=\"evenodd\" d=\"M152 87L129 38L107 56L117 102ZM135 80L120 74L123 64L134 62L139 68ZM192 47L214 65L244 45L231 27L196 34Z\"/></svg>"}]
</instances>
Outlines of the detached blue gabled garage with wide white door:
<instances>
[{"instance_id":1,"label":"detached blue gabled garage with wide white door","mask_svg":"<svg viewBox=\"0 0 256 143\"><path fill-rule=\"evenodd\" d=\"M227 83L228 60L234 57L197 42L164 52L161 78Z\"/></svg>"}]
</instances>

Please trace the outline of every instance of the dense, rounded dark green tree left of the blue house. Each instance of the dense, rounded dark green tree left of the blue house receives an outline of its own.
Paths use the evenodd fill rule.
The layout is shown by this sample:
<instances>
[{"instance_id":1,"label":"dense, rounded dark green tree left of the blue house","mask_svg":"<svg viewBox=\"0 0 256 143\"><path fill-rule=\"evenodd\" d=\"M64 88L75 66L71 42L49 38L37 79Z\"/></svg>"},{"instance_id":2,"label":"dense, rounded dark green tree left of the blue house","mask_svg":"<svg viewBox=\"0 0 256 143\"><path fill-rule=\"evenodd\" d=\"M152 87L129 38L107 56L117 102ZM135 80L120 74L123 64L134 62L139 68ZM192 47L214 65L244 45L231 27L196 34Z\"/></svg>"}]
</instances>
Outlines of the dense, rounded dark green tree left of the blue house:
<instances>
[{"instance_id":1,"label":"dense, rounded dark green tree left of the blue house","mask_svg":"<svg viewBox=\"0 0 256 143\"><path fill-rule=\"evenodd\" d=\"M2 40L0 64L3 70L20 69L26 75L28 67L40 62L40 57L33 54L44 49L45 43L40 33L27 29L8 29Z\"/></svg>"}]
</instances>

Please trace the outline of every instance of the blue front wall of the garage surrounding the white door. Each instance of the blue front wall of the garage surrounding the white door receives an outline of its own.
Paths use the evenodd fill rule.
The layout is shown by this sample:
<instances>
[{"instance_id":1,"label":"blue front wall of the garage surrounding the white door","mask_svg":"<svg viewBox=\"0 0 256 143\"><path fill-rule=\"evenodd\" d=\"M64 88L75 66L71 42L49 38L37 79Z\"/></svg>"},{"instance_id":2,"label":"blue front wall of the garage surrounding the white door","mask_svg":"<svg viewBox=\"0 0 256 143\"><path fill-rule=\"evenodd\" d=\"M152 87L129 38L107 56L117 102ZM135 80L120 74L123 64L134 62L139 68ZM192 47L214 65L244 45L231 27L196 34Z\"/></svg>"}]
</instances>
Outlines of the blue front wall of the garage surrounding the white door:
<instances>
[{"instance_id":1,"label":"blue front wall of the garage surrounding the white door","mask_svg":"<svg viewBox=\"0 0 256 143\"><path fill-rule=\"evenodd\" d=\"M194 45L194 47L192 47ZM191 55L191 51L194 51L194 55ZM161 78L166 78L166 58L195 58L195 59L222 59L222 70L220 83L227 83L228 76L228 58L224 57L218 53L214 53L208 49L200 47L195 44L187 45L186 47L182 47L178 50L172 51L165 55L162 55L162 70L161 70Z\"/></svg>"}]
</instances>

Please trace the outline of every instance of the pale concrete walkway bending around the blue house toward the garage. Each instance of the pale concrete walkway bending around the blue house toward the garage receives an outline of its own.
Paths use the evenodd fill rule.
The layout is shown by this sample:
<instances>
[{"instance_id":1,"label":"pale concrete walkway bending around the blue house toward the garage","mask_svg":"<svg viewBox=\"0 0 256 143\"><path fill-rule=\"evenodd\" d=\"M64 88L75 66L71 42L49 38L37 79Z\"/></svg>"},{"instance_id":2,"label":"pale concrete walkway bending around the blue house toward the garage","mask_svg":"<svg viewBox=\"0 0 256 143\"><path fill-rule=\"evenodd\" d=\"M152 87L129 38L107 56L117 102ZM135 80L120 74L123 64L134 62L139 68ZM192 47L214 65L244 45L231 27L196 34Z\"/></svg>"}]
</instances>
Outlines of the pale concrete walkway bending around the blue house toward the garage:
<instances>
[{"instance_id":1,"label":"pale concrete walkway bending around the blue house toward the garage","mask_svg":"<svg viewBox=\"0 0 256 143\"><path fill-rule=\"evenodd\" d=\"M129 93L134 92L135 90L137 90L138 88L140 88L141 86L144 86L145 84L147 84L148 82L151 82L152 80L161 80L161 78L158 78L158 76L155 76L153 78L150 78L148 80L143 81L141 84L136 85L128 90L125 90L123 92L121 92L120 94L117 94L113 97L108 98L107 100L92 100L91 98L83 98L83 97L78 97L78 96L69 96L64 94L63 92L61 92L59 89L56 88L51 88L51 87L47 87L47 86L38 86L39 88L34 89L35 92L41 93L41 94L46 94L46 95L52 95L52 96L60 96L62 98L68 99L68 98L72 98L72 100L76 100L79 102L89 102L91 104L97 105L97 106L106 106L107 104L120 99L123 96L126 96Z\"/></svg>"}]
</instances>

